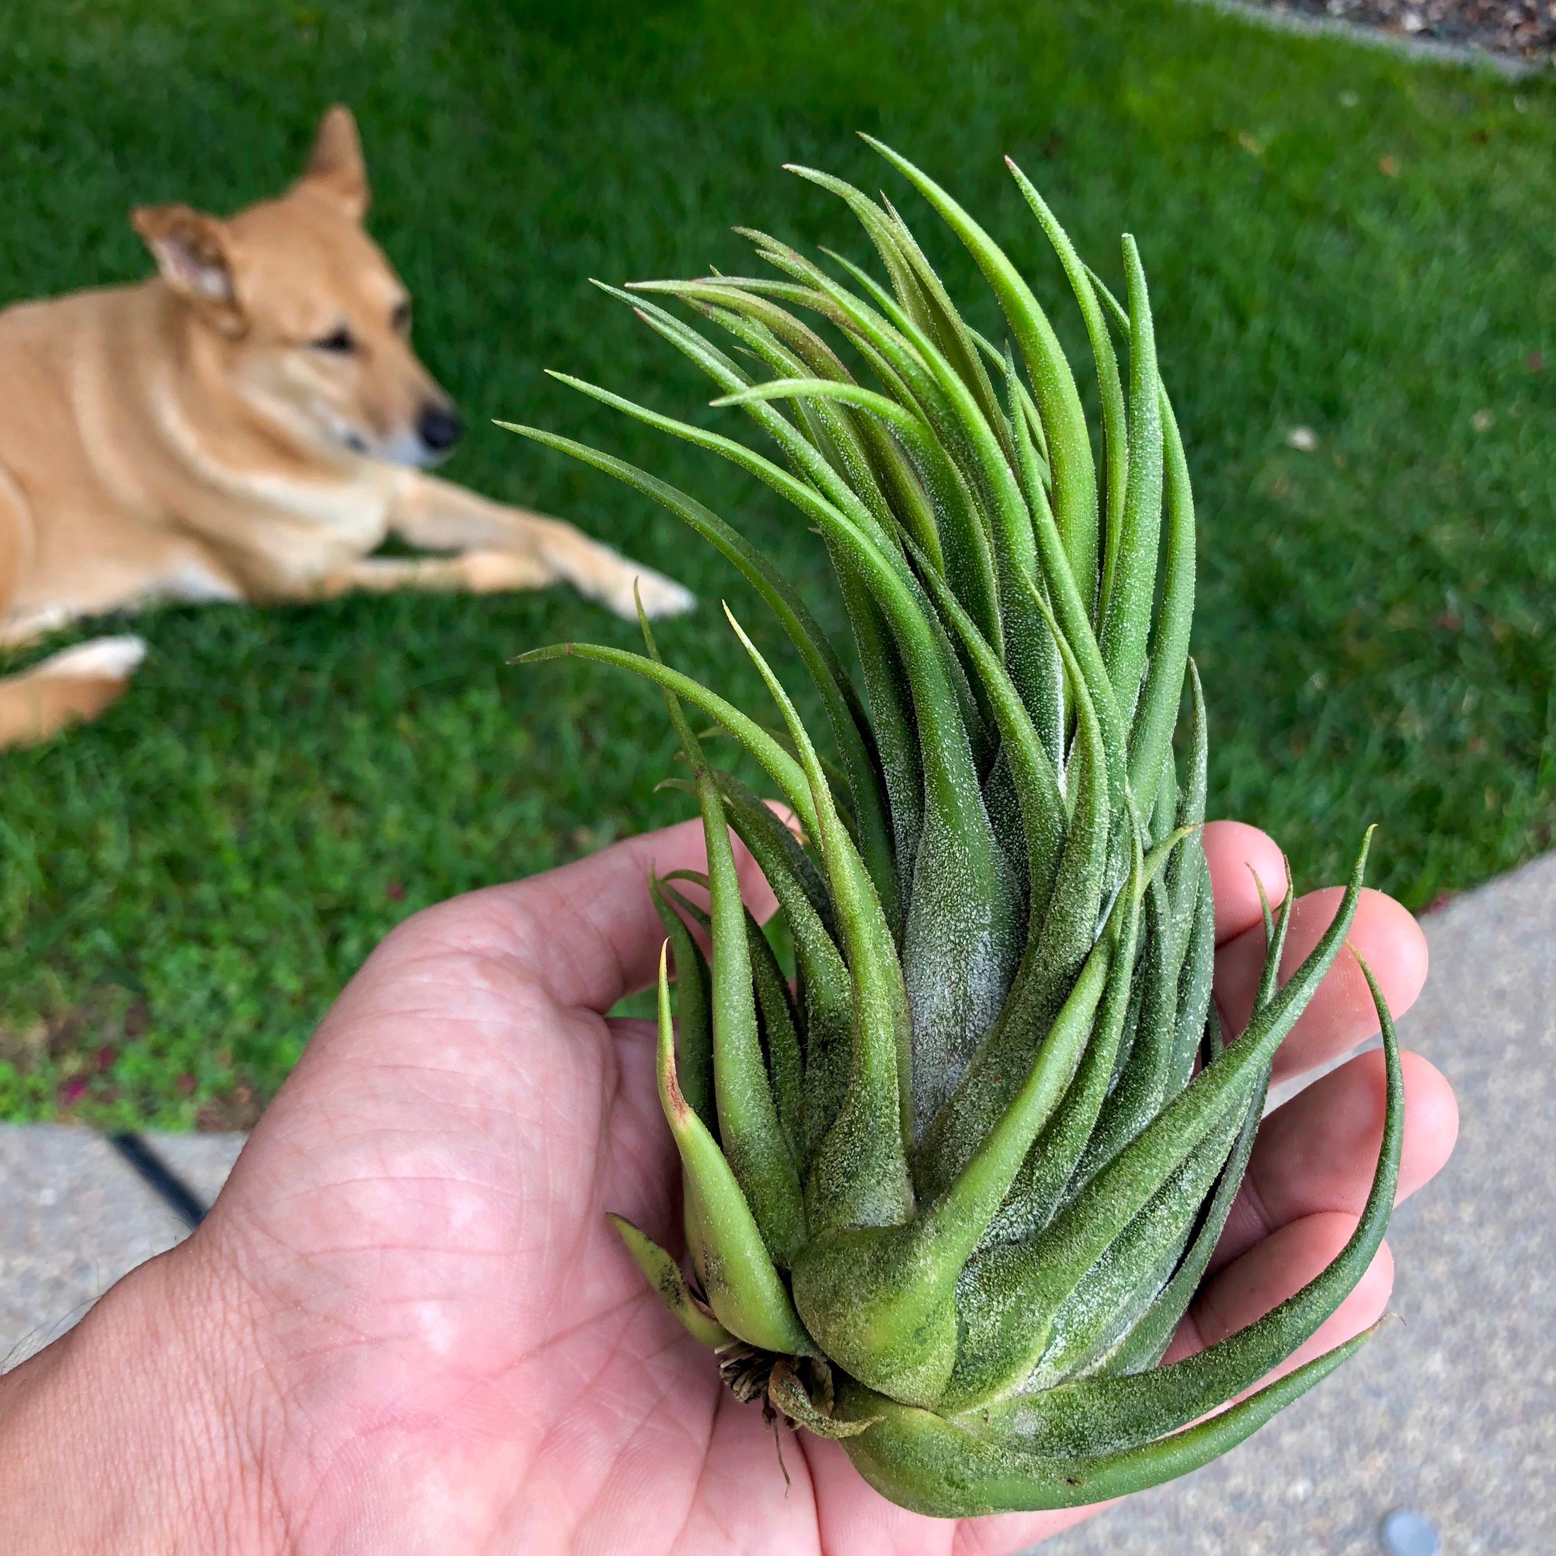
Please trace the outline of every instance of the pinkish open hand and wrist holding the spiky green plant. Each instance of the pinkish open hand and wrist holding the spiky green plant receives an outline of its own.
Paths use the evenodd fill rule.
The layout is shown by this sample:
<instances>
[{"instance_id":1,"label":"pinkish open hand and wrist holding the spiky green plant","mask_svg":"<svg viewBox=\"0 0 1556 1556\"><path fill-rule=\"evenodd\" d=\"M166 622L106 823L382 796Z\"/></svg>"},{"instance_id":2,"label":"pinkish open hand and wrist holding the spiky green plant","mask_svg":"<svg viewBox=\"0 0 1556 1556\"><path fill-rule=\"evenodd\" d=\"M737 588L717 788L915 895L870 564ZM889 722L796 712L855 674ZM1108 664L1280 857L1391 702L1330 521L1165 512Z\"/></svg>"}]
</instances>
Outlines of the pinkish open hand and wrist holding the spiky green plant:
<instances>
[{"instance_id":1,"label":"pinkish open hand and wrist holding the spiky green plant","mask_svg":"<svg viewBox=\"0 0 1556 1556\"><path fill-rule=\"evenodd\" d=\"M1204 832L1228 1032L1263 955L1274 843ZM738 850L747 902L772 910ZM0 1380L0 1548L16 1551L842 1551L994 1556L1085 1517L960 1523L887 1503L836 1442L741 1405L605 1221L677 1246L678 1162L647 1022L646 874L700 868L700 823L419 913L373 952L255 1128L205 1225ZM1249 870L1251 867L1251 870ZM1274 893L1273 893L1274 895ZM1340 892L1298 901L1285 971ZM1369 892L1351 932L1399 1015L1425 941ZM1276 1078L1376 1030L1341 957ZM1453 1095L1405 1055L1399 1197L1447 1159ZM1382 1139L1382 1055L1265 1122L1212 1273L1169 1354L1251 1323L1340 1249ZM1386 1246L1290 1366L1371 1324Z\"/></svg>"}]
</instances>

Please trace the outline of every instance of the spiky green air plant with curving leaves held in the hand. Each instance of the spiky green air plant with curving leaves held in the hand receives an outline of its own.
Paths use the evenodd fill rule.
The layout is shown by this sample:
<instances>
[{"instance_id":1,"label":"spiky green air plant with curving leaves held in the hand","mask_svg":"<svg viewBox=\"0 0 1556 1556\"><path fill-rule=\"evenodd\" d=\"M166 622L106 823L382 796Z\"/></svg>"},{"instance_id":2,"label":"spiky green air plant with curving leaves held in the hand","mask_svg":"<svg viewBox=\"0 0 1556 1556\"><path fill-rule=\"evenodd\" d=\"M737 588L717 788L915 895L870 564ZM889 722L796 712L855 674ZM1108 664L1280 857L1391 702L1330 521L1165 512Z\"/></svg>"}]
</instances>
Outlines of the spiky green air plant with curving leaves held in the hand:
<instances>
[{"instance_id":1,"label":"spiky green air plant with curving leaves held in the hand","mask_svg":"<svg viewBox=\"0 0 1556 1556\"><path fill-rule=\"evenodd\" d=\"M1341 949L1366 843L1284 985L1291 892L1279 913L1267 906L1254 1015L1228 1041L1211 1002L1206 719L1187 652L1193 506L1136 246L1123 238L1120 303L1010 165L1080 303L1099 470L1021 272L937 184L876 149L968 247L1015 349L963 321L884 196L794 168L850 207L887 285L750 232L776 277L605 288L778 459L563 380L724 454L820 531L859 685L790 584L713 512L517 428L664 504L750 579L814 682L829 753L733 616L781 734L666 666L647 622L644 655L563 644L524 658L574 654L657 682L689 772L674 781L706 829L706 909L674 876L649 882L675 969L672 1032L661 958L658 1086L692 1274L618 1220L627 1248L742 1399L842 1439L893 1502L1058 1508L1206 1463L1365 1341L1223 1408L1315 1332L1377 1249L1399 1057L1374 983L1388 1109L1355 1235L1248 1329L1161 1365L1242 1181L1276 1047ZM756 759L794 828L713 764L689 710ZM787 923L792 985L742 907L731 828Z\"/></svg>"}]
</instances>

